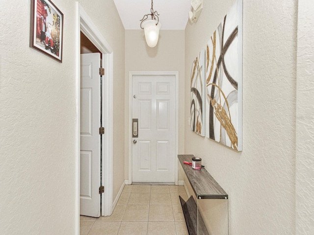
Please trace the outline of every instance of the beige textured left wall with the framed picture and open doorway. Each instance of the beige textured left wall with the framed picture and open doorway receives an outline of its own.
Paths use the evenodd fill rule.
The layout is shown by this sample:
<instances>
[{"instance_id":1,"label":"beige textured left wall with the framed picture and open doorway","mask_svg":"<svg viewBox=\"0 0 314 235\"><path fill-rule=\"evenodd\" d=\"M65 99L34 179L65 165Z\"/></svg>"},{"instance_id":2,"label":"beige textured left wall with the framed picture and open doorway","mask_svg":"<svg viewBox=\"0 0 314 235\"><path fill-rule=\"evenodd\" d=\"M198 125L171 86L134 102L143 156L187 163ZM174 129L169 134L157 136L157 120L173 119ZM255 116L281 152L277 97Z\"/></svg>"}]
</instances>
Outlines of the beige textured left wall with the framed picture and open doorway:
<instances>
[{"instance_id":1,"label":"beige textured left wall with the framed picture and open doorway","mask_svg":"<svg viewBox=\"0 0 314 235\"><path fill-rule=\"evenodd\" d=\"M30 0L0 7L1 234L75 234L75 0L64 14L63 63L29 47ZM124 28L112 0L81 6L114 51L114 162L124 161ZM124 167L115 167L122 185ZM114 195L117 187L114 188Z\"/></svg>"}]
</instances>

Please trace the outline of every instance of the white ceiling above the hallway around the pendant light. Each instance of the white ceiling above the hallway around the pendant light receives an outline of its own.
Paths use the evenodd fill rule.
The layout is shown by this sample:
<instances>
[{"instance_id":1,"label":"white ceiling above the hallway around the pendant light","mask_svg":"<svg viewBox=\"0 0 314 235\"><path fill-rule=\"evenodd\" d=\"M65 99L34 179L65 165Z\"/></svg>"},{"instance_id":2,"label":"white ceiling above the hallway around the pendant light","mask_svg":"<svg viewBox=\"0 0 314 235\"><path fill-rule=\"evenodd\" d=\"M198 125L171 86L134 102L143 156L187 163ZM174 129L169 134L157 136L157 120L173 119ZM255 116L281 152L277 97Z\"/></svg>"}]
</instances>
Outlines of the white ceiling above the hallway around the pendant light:
<instances>
[{"instance_id":1,"label":"white ceiling above the hallway around the pendant light","mask_svg":"<svg viewBox=\"0 0 314 235\"><path fill-rule=\"evenodd\" d=\"M140 20L151 13L151 0L113 0L125 29L141 29ZM184 30L191 0L153 0L161 30Z\"/></svg>"}]
</instances>

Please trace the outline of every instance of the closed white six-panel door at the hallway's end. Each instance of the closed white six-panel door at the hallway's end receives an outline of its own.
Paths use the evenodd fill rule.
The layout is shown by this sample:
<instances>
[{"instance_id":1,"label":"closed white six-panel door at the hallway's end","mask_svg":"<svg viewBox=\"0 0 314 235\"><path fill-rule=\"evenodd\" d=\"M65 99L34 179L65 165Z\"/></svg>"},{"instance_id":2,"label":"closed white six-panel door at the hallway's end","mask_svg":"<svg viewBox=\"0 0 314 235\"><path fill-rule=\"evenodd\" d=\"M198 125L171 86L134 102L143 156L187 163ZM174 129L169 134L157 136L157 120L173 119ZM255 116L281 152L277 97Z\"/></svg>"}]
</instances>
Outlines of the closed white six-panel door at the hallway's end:
<instances>
[{"instance_id":1,"label":"closed white six-panel door at the hallway's end","mask_svg":"<svg viewBox=\"0 0 314 235\"><path fill-rule=\"evenodd\" d=\"M175 81L172 75L132 76L134 183L175 183Z\"/></svg>"}]
</instances>

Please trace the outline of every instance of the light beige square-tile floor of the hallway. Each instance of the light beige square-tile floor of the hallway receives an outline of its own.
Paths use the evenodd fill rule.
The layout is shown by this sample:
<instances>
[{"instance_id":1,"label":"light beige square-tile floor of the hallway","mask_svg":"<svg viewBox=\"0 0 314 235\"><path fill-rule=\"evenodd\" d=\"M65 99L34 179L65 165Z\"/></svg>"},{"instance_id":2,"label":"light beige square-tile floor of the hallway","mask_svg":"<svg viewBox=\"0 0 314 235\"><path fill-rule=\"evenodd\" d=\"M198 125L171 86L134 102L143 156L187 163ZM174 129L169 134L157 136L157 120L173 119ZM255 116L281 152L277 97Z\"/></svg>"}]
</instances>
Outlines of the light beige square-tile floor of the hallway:
<instances>
[{"instance_id":1,"label":"light beige square-tile floor of the hallway","mask_svg":"<svg viewBox=\"0 0 314 235\"><path fill-rule=\"evenodd\" d=\"M188 235L183 186L126 185L110 216L80 216L80 235Z\"/></svg>"}]
</instances>

